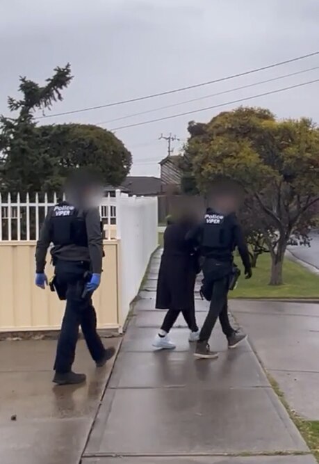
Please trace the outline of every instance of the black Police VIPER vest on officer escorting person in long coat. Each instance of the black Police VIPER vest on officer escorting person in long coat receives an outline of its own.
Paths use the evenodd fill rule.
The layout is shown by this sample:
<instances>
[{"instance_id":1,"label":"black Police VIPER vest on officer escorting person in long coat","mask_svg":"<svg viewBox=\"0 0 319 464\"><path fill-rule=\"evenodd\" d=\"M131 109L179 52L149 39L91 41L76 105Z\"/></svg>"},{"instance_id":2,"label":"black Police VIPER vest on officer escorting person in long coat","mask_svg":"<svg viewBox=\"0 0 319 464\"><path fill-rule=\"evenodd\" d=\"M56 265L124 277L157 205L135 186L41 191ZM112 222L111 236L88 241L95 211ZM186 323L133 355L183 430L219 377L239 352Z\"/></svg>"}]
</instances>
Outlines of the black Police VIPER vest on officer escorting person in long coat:
<instances>
[{"instance_id":1,"label":"black Police VIPER vest on officer escorting person in long coat","mask_svg":"<svg viewBox=\"0 0 319 464\"><path fill-rule=\"evenodd\" d=\"M213 210L206 211L202 247L214 250L232 250L234 241L232 223L231 216L224 216Z\"/></svg>"}]
</instances>

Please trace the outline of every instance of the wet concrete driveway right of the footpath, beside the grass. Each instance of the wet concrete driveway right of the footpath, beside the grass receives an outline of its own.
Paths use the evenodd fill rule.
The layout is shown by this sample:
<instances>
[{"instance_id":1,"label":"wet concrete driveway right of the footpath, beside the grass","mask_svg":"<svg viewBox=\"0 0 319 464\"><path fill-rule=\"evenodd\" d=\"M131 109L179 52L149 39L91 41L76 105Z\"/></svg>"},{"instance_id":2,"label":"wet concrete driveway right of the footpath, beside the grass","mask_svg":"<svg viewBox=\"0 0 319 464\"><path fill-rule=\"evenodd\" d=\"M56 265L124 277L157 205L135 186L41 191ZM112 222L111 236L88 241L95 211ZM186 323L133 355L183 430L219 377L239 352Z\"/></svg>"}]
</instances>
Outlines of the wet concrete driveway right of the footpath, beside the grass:
<instances>
[{"instance_id":1,"label":"wet concrete driveway right of the footpath, beside the grass","mask_svg":"<svg viewBox=\"0 0 319 464\"><path fill-rule=\"evenodd\" d=\"M259 359L289 406L319 419L319 304L231 301Z\"/></svg>"}]
</instances>

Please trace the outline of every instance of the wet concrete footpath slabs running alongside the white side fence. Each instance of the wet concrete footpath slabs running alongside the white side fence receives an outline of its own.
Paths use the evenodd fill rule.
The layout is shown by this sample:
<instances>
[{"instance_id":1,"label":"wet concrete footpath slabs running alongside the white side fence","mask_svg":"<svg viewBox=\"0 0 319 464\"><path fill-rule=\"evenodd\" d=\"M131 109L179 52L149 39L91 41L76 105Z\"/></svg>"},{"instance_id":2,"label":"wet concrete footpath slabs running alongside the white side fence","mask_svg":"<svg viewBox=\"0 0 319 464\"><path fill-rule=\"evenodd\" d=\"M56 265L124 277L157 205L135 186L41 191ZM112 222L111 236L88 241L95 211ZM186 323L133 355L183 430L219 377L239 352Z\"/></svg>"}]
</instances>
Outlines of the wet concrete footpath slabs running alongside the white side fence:
<instances>
[{"instance_id":1,"label":"wet concrete footpath slabs running alongside the white side fence","mask_svg":"<svg viewBox=\"0 0 319 464\"><path fill-rule=\"evenodd\" d=\"M250 344L228 351L218 327L211 346L220 358L195 360L179 318L172 330L177 349L152 350L164 314L154 309L159 262L160 253L150 266L82 463L315 463ZM207 304L196 303L201 324Z\"/></svg>"}]
</instances>

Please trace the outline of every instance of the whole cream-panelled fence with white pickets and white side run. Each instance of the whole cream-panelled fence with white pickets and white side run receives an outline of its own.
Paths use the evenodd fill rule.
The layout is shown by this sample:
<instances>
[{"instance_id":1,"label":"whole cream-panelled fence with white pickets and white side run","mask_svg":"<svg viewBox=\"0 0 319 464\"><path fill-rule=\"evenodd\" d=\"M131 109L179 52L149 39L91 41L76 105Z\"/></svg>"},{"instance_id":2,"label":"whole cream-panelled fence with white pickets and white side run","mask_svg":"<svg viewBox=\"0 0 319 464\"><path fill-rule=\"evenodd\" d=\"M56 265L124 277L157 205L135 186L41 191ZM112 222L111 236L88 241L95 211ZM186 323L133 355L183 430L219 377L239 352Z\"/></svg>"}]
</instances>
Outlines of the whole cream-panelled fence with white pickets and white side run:
<instances>
[{"instance_id":1,"label":"whole cream-panelled fence with white pickets and white side run","mask_svg":"<svg viewBox=\"0 0 319 464\"><path fill-rule=\"evenodd\" d=\"M0 332L55 330L63 302L34 285L35 243L49 208L56 204L35 195L0 197ZM94 302L99 328L122 330L157 246L157 199L129 197L119 191L101 201L104 223L104 272ZM48 266L50 276L53 269Z\"/></svg>"}]
</instances>

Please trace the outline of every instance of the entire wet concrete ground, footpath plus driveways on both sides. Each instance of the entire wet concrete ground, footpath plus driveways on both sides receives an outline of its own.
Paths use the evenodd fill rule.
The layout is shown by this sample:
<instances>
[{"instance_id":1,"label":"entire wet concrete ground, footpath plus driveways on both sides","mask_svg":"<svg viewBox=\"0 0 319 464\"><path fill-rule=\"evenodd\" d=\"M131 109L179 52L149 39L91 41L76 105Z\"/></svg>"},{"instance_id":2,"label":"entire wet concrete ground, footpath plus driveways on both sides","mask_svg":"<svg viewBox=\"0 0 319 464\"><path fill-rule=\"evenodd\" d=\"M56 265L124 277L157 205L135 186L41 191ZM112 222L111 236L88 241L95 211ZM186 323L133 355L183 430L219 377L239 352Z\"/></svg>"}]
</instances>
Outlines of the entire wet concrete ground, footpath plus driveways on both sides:
<instances>
[{"instance_id":1,"label":"entire wet concrete ground, footpath plus driveways on both sides","mask_svg":"<svg viewBox=\"0 0 319 464\"><path fill-rule=\"evenodd\" d=\"M95 369L81 341L74 370L88 374L87 383L54 387L56 342L0 342L1 464L316 462L254 350L291 407L318 419L319 305L231 301L254 350L245 342L229 351L218 326L211 347L220 358L195 360L179 318L171 334L177 349L154 351L152 339L164 315L154 309L158 258L112 375L111 364ZM197 299L196 307L202 323L207 303Z\"/></svg>"}]
</instances>

